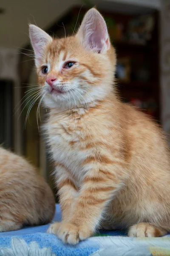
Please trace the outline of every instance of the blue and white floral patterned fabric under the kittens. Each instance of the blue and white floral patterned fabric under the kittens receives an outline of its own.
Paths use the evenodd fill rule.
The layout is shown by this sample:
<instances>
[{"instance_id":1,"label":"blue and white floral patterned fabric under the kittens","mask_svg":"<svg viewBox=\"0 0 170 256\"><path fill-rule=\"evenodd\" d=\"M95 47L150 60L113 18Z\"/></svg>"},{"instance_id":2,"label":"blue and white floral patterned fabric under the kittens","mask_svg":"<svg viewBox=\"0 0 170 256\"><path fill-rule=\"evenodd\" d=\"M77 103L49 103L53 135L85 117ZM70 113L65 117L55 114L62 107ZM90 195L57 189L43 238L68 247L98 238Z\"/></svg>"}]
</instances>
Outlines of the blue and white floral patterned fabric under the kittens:
<instances>
[{"instance_id":1,"label":"blue and white floral patterned fabric under the kittens","mask_svg":"<svg viewBox=\"0 0 170 256\"><path fill-rule=\"evenodd\" d=\"M61 212L57 205L54 221L60 220ZM143 248L143 250L140 249L140 256L150 256L154 255L152 254L154 249L158 252L163 248L161 250L166 250L165 253L170 250L170 236L137 239L129 238L117 231L101 231L100 234L76 246L70 246L63 244L56 236L45 233L48 227L49 225L24 227L21 230L0 233L0 256L89 256L93 253L95 256L130 256L139 255L136 254L139 251L138 248ZM134 253L132 253L133 250Z\"/></svg>"}]
</instances>

